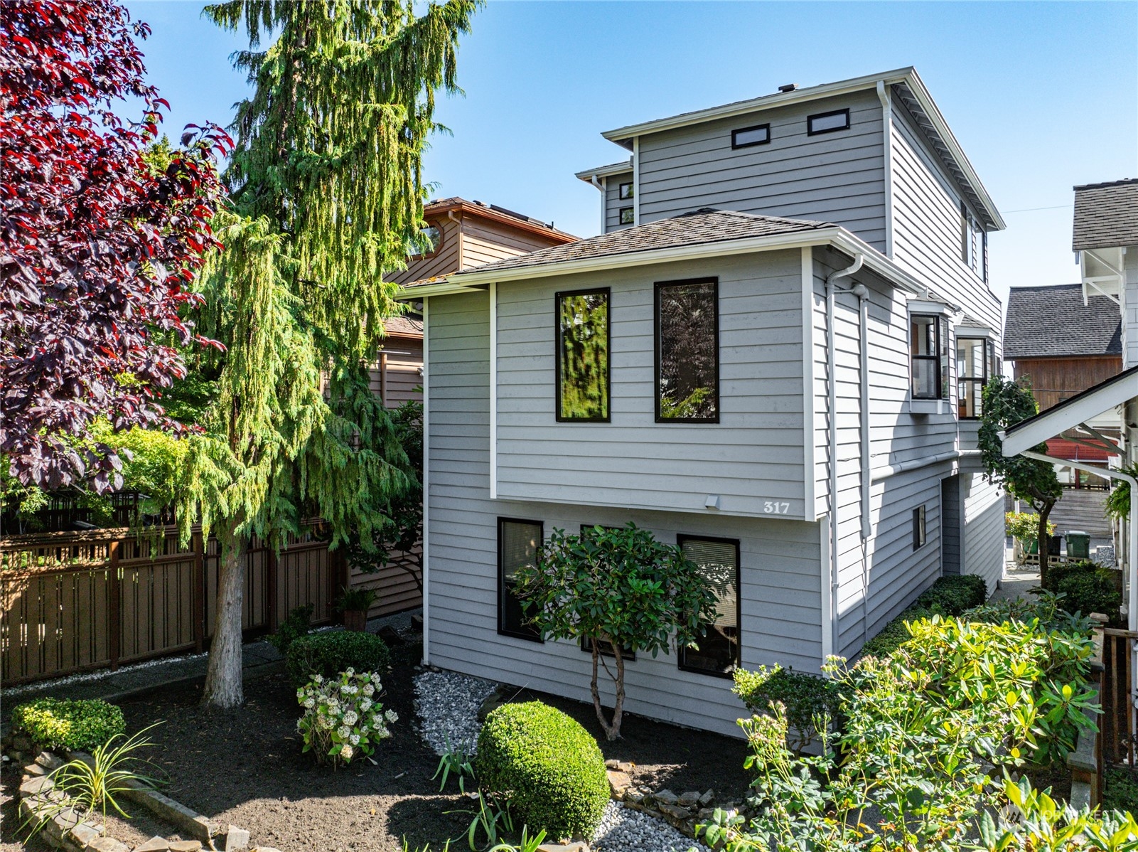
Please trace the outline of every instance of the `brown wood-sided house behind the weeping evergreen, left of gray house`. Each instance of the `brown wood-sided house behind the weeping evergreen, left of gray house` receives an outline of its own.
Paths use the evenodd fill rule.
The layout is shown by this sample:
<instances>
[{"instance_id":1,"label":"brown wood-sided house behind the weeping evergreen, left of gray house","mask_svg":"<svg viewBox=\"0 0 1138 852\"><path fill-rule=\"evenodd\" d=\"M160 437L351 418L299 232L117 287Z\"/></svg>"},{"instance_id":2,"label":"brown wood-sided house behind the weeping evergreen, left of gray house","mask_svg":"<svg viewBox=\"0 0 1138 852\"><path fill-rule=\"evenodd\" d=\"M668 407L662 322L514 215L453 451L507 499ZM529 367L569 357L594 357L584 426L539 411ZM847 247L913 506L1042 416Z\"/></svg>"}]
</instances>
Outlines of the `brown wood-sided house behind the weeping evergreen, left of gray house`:
<instances>
[{"instance_id":1,"label":"brown wood-sided house behind the weeping evergreen, left of gray house","mask_svg":"<svg viewBox=\"0 0 1138 852\"><path fill-rule=\"evenodd\" d=\"M577 239L552 224L481 202L444 198L423 206L427 236L434 249L407 260L407 268L388 280L402 285L443 278L452 272L512 257L538 248ZM384 323L387 337L371 369L371 390L388 408L421 400L423 372L423 321L418 312L395 317ZM410 559L411 572L401 567ZM364 574L353 568L356 588L378 592L371 615L388 615L422 604L413 574L419 573L418 554L398 555L397 564Z\"/></svg>"}]
</instances>

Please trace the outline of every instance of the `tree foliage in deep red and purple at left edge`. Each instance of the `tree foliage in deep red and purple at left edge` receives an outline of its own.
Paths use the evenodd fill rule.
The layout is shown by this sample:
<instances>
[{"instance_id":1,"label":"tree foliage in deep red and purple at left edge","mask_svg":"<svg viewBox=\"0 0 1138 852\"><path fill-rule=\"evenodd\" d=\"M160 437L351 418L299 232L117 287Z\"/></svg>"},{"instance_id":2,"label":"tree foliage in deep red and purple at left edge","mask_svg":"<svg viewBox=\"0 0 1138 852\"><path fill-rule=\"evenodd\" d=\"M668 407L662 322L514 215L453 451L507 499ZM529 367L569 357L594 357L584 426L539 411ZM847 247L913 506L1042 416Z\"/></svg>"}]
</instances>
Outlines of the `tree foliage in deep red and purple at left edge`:
<instances>
[{"instance_id":1,"label":"tree foliage in deep red and purple at left edge","mask_svg":"<svg viewBox=\"0 0 1138 852\"><path fill-rule=\"evenodd\" d=\"M115 485L109 448L76 453L61 435L92 418L163 420L162 387L184 375L193 339L185 289L216 246L222 197L214 126L182 138L164 173L142 153L168 104L143 81L132 23L113 0L6 2L0 15L0 451L24 483ZM126 125L115 101L141 98ZM129 374L138 382L121 383Z\"/></svg>"}]
</instances>

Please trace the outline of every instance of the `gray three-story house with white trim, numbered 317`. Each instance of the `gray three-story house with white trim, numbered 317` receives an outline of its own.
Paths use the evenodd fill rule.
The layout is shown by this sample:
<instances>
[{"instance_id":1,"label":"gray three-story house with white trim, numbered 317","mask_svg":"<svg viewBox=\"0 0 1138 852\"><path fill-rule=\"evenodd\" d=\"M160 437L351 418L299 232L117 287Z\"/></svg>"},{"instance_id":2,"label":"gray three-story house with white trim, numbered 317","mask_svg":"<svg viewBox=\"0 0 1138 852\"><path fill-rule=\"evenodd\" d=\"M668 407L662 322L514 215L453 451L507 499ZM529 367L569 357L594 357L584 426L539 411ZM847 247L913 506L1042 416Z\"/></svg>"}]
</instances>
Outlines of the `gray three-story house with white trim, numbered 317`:
<instances>
[{"instance_id":1,"label":"gray three-story house with white trim, numbered 317","mask_svg":"<svg viewBox=\"0 0 1138 852\"><path fill-rule=\"evenodd\" d=\"M409 288L426 319L430 663L588 699L511 579L628 521L717 577L630 712L737 734L736 666L817 672L941 574L1003 567L981 475L1004 227L913 68L604 136L603 234Z\"/></svg>"}]
</instances>

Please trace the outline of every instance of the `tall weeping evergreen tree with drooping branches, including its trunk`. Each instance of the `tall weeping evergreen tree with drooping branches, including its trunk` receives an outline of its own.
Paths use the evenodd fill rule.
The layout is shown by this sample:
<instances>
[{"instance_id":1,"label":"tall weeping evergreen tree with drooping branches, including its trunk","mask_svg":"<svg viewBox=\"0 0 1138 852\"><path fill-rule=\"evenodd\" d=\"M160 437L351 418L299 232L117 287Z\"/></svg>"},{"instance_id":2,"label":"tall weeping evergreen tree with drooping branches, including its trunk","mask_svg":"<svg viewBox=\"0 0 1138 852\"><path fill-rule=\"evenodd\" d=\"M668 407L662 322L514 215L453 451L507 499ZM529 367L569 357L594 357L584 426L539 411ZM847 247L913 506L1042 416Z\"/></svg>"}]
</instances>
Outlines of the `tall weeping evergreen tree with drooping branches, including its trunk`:
<instances>
[{"instance_id":1,"label":"tall weeping evergreen tree with drooping branches, including its trunk","mask_svg":"<svg viewBox=\"0 0 1138 852\"><path fill-rule=\"evenodd\" d=\"M456 91L457 39L477 0L233 0L206 7L249 38L214 219L224 249L199 276L199 331L224 344L195 367L216 379L205 429L187 451L182 535L199 521L221 547L204 701L242 701L244 550L274 547L306 516L330 547L391 524L409 486L398 435L370 392L384 319L398 312L385 270L419 245L421 161L435 92ZM273 38L261 50L261 41Z\"/></svg>"}]
</instances>

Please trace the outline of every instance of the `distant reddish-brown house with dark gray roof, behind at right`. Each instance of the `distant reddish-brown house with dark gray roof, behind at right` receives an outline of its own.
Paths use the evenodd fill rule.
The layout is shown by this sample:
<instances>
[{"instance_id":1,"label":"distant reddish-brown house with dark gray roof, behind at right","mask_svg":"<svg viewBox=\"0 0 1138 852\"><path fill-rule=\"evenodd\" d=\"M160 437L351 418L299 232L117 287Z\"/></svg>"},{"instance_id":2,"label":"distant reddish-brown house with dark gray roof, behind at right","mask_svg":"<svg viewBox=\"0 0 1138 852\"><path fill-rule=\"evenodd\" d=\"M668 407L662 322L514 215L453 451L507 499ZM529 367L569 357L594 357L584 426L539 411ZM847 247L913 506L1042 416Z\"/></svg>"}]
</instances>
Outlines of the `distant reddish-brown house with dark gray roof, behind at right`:
<instances>
[{"instance_id":1,"label":"distant reddish-brown house with dark gray roof, behind at right","mask_svg":"<svg viewBox=\"0 0 1138 852\"><path fill-rule=\"evenodd\" d=\"M1039 410L1046 411L1122 371L1119 303L1085 284L1013 287L1004 323L1004 359L1014 362L1015 378L1031 382ZM1107 459L1102 449L1065 439L1048 441L1047 451L1062 459ZM1072 468L1059 474L1069 485L1104 484ZM1102 523L1102 518L1096 521Z\"/></svg>"}]
</instances>

